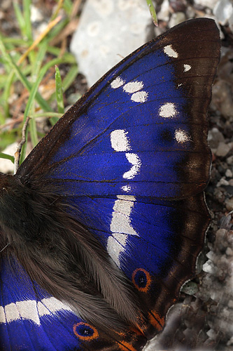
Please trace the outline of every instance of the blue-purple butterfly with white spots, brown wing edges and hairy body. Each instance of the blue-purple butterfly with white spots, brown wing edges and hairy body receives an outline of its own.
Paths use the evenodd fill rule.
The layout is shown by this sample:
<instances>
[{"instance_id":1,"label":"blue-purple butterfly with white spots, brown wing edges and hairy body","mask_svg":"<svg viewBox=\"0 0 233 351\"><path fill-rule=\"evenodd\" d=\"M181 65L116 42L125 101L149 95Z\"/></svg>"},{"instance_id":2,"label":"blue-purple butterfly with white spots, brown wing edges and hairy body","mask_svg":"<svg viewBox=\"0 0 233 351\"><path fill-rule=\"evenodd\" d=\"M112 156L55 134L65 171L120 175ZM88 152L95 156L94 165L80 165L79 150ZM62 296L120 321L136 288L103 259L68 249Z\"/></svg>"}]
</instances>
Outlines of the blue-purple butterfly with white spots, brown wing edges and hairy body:
<instances>
[{"instance_id":1,"label":"blue-purple butterfly with white spots, brown wing edges and hairy body","mask_svg":"<svg viewBox=\"0 0 233 351\"><path fill-rule=\"evenodd\" d=\"M1 350L139 351L195 274L209 226L213 20L113 67L0 175Z\"/></svg>"}]
</instances>

